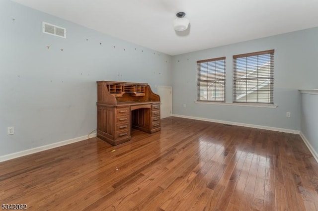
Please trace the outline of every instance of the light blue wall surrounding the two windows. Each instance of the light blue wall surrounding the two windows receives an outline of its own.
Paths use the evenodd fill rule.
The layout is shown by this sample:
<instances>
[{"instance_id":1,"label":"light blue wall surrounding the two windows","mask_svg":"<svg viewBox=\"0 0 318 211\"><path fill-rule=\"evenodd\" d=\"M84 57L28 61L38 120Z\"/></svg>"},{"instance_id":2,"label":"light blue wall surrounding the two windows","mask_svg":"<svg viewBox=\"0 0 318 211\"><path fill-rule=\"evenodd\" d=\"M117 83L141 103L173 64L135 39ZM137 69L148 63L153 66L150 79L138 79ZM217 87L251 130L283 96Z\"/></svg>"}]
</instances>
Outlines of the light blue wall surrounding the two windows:
<instances>
[{"instance_id":1,"label":"light blue wall surrounding the two windows","mask_svg":"<svg viewBox=\"0 0 318 211\"><path fill-rule=\"evenodd\" d=\"M173 114L300 130L301 97L298 90L317 87L317 38L318 28L312 28L173 56ZM277 108L194 103L197 60L226 56L226 102L232 103L233 55L271 49L275 50L274 104ZM289 118L287 111L291 112Z\"/></svg>"}]
</instances>

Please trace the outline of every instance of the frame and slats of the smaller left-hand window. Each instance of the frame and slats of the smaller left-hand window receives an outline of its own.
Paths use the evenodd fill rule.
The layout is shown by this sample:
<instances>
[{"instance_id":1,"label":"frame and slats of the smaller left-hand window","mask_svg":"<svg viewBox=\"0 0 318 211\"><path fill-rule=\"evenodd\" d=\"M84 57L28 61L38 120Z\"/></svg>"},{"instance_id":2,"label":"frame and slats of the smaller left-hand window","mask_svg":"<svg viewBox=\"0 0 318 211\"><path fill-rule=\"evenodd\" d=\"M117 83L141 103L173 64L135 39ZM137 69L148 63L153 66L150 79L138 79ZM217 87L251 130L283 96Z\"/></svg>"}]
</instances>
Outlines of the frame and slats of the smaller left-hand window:
<instances>
[{"instance_id":1,"label":"frame and slats of the smaller left-hand window","mask_svg":"<svg viewBox=\"0 0 318 211\"><path fill-rule=\"evenodd\" d=\"M216 72L215 72L215 79L206 79L206 80L201 80L201 67L200 65L202 63L208 63L208 62L217 62L217 61L223 61L223 65L224 65L224 68L221 68L219 70L222 70L222 72L224 73L224 79L217 79L216 78ZM215 71L217 71L217 64L215 64ZM209 67L206 68L206 71L209 71ZM215 98L215 100L200 100L200 98L202 97L201 95L201 90L200 90L200 83L202 82L223 82L223 89L220 89L218 88L218 91L221 92L221 95L222 95L222 91L223 91L223 100L222 101L217 101L216 99L218 98L216 96L216 90L215 90L215 93L214 95L211 94L212 97ZM197 101L198 102L216 102L216 103L225 103L225 100L226 100L226 96L225 96L225 91L226 91L226 57L223 56L223 57L218 57L218 58L211 58L211 59L205 59L205 60L198 60L197 61ZM208 95L208 94L207 94Z\"/></svg>"}]
</instances>

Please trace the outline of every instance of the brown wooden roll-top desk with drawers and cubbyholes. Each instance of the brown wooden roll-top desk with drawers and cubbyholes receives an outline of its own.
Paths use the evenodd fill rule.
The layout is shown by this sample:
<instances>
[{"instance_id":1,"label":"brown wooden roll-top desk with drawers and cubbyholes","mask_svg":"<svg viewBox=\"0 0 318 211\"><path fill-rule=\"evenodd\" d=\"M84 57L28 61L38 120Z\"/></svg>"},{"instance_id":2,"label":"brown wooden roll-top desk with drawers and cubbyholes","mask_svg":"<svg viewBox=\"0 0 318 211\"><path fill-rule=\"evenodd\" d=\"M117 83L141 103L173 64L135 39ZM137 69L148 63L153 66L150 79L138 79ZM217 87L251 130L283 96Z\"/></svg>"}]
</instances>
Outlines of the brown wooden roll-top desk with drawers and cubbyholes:
<instances>
[{"instance_id":1,"label":"brown wooden roll-top desk with drawers and cubbyholes","mask_svg":"<svg viewBox=\"0 0 318 211\"><path fill-rule=\"evenodd\" d=\"M160 127L160 97L146 83L97 81L97 137L118 145L131 128L154 133Z\"/></svg>"}]
</instances>

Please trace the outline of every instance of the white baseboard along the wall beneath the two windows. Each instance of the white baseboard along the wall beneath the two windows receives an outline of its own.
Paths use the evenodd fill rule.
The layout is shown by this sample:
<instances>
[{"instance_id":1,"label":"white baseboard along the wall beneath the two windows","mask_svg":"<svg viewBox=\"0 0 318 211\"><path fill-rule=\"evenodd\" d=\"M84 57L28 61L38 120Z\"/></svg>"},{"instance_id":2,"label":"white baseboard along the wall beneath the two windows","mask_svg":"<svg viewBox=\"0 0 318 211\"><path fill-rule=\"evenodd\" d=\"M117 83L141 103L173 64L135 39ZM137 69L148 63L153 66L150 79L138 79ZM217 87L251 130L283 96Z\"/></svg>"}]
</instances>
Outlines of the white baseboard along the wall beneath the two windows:
<instances>
[{"instance_id":1,"label":"white baseboard along the wall beneath the two windows","mask_svg":"<svg viewBox=\"0 0 318 211\"><path fill-rule=\"evenodd\" d=\"M239 123L239 122L223 121L218 119L208 119L208 118L201 118L201 117L194 117L194 116L184 116L184 115L178 115L178 114L172 114L172 116L187 118L187 119L202 120L202 121L208 121L208 122L216 122L221 124L231 124L231 125L237 125L237 126L243 126L243 127L272 130L272 131L278 131L278 132L284 132L284 133L293 133L293 134L300 133L299 130L290 130L290 129L279 128L279 127L268 127L268 126L262 126L262 125L245 124L245 123Z\"/></svg>"}]
</instances>

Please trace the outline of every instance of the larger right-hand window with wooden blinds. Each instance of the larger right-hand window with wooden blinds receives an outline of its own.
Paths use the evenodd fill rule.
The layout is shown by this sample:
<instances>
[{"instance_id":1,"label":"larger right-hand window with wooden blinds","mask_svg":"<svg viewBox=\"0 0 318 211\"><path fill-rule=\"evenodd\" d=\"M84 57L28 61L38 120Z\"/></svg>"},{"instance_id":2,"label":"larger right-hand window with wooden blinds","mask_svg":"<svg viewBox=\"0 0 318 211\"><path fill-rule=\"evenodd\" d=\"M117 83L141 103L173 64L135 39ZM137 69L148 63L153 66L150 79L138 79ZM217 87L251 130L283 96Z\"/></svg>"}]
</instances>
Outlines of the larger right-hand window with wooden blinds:
<instances>
[{"instance_id":1,"label":"larger right-hand window with wooden blinds","mask_svg":"<svg viewBox=\"0 0 318 211\"><path fill-rule=\"evenodd\" d=\"M274 103L274 50L233 56L233 102Z\"/></svg>"}]
</instances>

